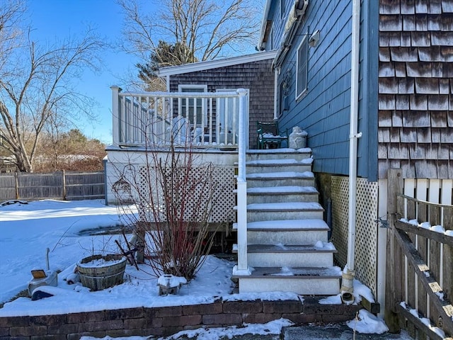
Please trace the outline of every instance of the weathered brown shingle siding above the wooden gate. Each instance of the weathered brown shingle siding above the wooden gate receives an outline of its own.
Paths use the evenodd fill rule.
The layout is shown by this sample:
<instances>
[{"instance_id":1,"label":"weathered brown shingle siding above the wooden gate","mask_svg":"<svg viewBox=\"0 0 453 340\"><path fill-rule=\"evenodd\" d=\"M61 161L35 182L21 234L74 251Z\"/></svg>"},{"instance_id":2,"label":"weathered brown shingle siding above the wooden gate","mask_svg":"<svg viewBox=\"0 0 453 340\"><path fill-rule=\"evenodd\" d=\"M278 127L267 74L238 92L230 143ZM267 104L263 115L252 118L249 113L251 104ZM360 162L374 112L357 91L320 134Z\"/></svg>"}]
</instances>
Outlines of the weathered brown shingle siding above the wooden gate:
<instances>
[{"instance_id":1,"label":"weathered brown shingle siding above the wooden gate","mask_svg":"<svg viewBox=\"0 0 453 340\"><path fill-rule=\"evenodd\" d=\"M453 0L379 1L379 178L453 179Z\"/></svg>"}]
</instances>

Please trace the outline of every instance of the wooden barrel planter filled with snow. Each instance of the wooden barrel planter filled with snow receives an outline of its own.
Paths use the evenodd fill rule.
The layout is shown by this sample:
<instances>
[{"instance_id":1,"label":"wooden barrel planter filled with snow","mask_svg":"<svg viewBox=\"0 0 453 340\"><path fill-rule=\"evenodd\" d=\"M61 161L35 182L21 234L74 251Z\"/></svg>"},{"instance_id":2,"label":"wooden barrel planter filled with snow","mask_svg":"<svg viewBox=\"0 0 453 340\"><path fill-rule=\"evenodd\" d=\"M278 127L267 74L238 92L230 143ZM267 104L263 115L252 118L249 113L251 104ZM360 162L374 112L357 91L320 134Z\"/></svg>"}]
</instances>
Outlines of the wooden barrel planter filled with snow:
<instances>
[{"instance_id":1,"label":"wooden barrel planter filled with snow","mask_svg":"<svg viewBox=\"0 0 453 340\"><path fill-rule=\"evenodd\" d=\"M93 255L77 263L82 285L91 290L120 285L126 268L126 258L122 255Z\"/></svg>"}]
</instances>

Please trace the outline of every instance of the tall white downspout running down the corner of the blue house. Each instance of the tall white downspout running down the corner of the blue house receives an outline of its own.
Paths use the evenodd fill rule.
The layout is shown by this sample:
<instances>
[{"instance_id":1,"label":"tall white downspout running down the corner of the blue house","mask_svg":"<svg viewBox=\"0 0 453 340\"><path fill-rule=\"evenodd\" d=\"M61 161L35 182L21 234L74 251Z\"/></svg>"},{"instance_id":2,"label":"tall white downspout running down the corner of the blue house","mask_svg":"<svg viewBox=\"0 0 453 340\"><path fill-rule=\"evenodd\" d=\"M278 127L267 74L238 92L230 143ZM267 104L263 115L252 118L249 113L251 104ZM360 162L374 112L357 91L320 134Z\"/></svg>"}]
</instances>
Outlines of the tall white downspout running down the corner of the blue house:
<instances>
[{"instance_id":1,"label":"tall white downspout running down the corner of the blue house","mask_svg":"<svg viewBox=\"0 0 453 340\"><path fill-rule=\"evenodd\" d=\"M351 43L351 98L350 98L350 136L349 136L349 224L348 260L343 269L341 299L347 305L354 302L354 251L357 188L357 133L359 113L359 52L360 52L360 0L352 0L352 43Z\"/></svg>"}]
</instances>

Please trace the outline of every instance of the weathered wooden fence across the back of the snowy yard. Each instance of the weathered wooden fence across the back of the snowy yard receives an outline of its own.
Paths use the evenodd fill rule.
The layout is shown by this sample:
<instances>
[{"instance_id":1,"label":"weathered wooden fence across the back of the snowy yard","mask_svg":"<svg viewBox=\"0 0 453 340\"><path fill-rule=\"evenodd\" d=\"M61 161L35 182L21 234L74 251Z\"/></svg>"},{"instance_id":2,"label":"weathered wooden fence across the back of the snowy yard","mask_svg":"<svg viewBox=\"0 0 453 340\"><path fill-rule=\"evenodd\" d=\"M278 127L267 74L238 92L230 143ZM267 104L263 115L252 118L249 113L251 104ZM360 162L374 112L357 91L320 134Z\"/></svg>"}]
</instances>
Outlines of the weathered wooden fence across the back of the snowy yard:
<instances>
[{"instance_id":1,"label":"weathered wooden fence across the back of the snowy yard","mask_svg":"<svg viewBox=\"0 0 453 340\"><path fill-rule=\"evenodd\" d=\"M103 171L0 174L0 203L5 200L91 200L105 198Z\"/></svg>"}]
</instances>

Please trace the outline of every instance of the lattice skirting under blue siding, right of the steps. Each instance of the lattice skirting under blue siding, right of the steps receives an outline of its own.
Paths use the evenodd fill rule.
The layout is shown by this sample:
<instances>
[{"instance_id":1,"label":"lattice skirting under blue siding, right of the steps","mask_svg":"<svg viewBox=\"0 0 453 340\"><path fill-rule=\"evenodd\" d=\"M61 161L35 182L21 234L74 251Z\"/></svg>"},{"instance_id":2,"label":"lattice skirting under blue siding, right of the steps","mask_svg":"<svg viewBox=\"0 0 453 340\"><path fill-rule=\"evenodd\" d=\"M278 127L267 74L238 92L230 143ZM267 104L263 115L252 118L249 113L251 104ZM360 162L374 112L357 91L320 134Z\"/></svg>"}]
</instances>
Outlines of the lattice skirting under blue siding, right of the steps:
<instances>
[{"instance_id":1,"label":"lattice skirting under blue siding, right of the steps","mask_svg":"<svg viewBox=\"0 0 453 340\"><path fill-rule=\"evenodd\" d=\"M332 176L332 241L342 268L348 258L349 179ZM355 276L377 296L378 183L357 179L355 227Z\"/></svg>"}]
</instances>

